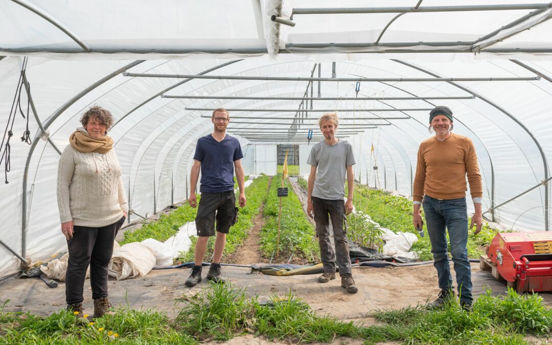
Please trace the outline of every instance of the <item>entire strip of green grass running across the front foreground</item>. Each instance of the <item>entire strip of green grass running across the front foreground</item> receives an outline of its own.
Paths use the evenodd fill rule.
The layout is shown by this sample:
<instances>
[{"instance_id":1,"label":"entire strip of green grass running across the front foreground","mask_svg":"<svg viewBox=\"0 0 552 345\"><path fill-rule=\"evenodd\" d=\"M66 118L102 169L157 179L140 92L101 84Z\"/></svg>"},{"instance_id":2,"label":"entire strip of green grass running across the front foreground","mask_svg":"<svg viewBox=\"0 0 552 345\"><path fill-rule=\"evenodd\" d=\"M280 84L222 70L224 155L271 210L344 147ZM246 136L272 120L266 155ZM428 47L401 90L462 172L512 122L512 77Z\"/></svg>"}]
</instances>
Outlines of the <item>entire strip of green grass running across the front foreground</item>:
<instances>
[{"instance_id":1,"label":"entire strip of green grass running across the front foreground","mask_svg":"<svg viewBox=\"0 0 552 345\"><path fill-rule=\"evenodd\" d=\"M469 313L453 300L436 311L421 306L373 311L369 316L379 324L369 327L316 314L291 293L259 302L257 296L230 283L210 284L178 301L175 320L160 312L123 307L93 324L65 310L47 317L4 312L6 302L0 307L0 343L196 344L251 333L289 343L331 342L343 336L367 344L523 344L527 334L544 343L552 330L552 310L546 309L542 298L520 296L512 289L505 296L487 291Z\"/></svg>"}]
</instances>

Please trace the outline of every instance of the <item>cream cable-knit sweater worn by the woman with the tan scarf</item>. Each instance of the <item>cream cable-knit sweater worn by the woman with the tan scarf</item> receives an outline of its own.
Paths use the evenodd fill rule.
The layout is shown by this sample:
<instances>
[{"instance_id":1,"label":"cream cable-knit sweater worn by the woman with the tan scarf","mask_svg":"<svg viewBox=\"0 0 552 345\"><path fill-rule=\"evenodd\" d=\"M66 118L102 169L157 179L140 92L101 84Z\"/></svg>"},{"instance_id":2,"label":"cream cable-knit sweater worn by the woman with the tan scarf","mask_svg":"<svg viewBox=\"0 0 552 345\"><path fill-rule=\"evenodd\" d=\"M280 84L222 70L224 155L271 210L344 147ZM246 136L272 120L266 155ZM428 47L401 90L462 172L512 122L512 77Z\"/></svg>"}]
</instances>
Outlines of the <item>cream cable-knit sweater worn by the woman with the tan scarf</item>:
<instances>
[{"instance_id":1,"label":"cream cable-knit sweater worn by the woman with the tan scarf","mask_svg":"<svg viewBox=\"0 0 552 345\"><path fill-rule=\"evenodd\" d=\"M57 167L57 205L62 223L102 227L128 212L115 150L82 153L67 145Z\"/></svg>"}]
</instances>

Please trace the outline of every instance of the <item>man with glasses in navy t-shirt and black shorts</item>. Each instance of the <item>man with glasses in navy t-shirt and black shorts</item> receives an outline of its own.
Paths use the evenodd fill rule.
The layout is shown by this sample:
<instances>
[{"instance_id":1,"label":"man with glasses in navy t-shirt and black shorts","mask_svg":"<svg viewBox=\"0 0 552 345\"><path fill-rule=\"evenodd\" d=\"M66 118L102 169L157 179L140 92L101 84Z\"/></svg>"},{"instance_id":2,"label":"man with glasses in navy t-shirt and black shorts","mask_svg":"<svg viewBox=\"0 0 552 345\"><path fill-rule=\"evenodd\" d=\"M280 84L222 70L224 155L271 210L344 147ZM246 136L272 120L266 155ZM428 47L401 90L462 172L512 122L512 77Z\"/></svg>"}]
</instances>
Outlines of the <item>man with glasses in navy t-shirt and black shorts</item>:
<instances>
[{"instance_id":1,"label":"man with glasses in navy t-shirt and black shorts","mask_svg":"<svg viewBox=\"0 0 552 345\"><path fill-rule=\"evenodd\" d=\"M195 208L195 186L198 183L201 169L201 199L195 217L195 227L198 232L198 241L195 242L194 267L190 277L186 279L187 286L195 286L201 282L201 262L207 250L207 241L210 236L216 239L215 254L209 268L207 279L215 283L224 283L220 270L220 259L226 244L226 234L230 231L235 219L236 197L234 195L234 169L240 188L240 206L245 206L245 188L243 182L243 167L240 142L226 134L226 127L230 122L230 115L224 108L216 108L211 116L214 124L213 133L200 137L195 146L194 165L190 171L190 197L188 203Z\"/></svg>"}]
</instances>

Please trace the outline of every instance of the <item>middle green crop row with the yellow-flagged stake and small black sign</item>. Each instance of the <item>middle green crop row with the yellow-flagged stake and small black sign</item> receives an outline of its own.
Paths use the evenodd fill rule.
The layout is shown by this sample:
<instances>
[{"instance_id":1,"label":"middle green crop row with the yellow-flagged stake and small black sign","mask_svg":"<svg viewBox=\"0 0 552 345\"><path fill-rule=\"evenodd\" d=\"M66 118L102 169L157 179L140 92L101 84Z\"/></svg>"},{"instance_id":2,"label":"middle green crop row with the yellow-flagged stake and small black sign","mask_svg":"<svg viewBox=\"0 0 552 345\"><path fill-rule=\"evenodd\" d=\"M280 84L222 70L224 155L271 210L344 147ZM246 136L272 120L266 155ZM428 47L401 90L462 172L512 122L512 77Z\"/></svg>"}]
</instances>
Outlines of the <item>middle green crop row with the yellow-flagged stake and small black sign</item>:
<instances>
[{"instance_id":1,"label":"middle green crop row with the yellow-flagged stake and small black sign","mask_svg":"<svg viewBox=\"0 0 552 345\"><path fill-rule=\"evenodd\" d=\"M276 253L280 201L277 189L281 187L281 181L282 174L277 174L272 179L263 211L261 254L265 258L270 258ZM309 259L319 256L320 249L315 239L314 226L307 220L301 202L287 179L284 181L284 187L288 187L289 196L282 198L279 253L286 258L289 258L291 254L294 254L295 257L302 256Z\"/></svg>"}]
</instances>

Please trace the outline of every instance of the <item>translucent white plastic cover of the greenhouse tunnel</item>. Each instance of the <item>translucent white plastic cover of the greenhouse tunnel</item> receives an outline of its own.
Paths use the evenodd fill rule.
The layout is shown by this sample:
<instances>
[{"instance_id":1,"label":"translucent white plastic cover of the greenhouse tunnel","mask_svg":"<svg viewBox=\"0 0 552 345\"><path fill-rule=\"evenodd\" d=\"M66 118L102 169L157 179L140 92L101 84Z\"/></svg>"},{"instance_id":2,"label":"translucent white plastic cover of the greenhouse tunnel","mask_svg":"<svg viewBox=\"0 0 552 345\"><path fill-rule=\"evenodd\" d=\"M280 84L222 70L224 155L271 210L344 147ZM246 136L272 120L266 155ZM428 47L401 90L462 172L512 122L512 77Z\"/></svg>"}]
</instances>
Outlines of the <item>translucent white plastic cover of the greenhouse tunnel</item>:
<instances>
[{"instance_id":1,"label":"translucent white plastic cover of the greenhouse tunnel","mask_svg":"<svg viewBox=\"0 0 552 345\"><path fill-rule=\"evenodd\" d=\"M35 263L66 251L56 206L56 148L63 150L94 104L114 115L109 135L136 214L151 215L187 198L195 143L212 130L210 109L261 110L230 110L229 132L240 139L246 175L275 174L278 143L299 144L300 171L308 172L314 141L306 142L307 130L318 134L316 119L337 109L339 130L357 156L355 178L410 197L418 145L431 136L428 110L419 109L447 105L454 132L474 141L485 216L521 231L548 229L550 4L381 0L370 7L395 12L301 14L332 12L336 3L0 0L0 123L6 128L25 62L31 108L48 132L42 133L31 109L33 143L27 145L19 140L26 119L12 117L9 183L0 187L0 277L18 272L17 256ZM338 4L359 9L367 3ZM481 5L491 8L477 10ZM295 26L271 20L292 13ZM190 75L281 80L182 77ZM311 76L336 81L300 79ZM436 77L453 79L426 81ZM360 82L357 94L355 81L340 78L371 79ZM285 99L311 94L333 99ZM242 99L168 97L174 95ZM26 115L25 87L20 101ZM300 107L319 112L300 112L295 136L286 137Z\"/></svg>"}]
</instances>

